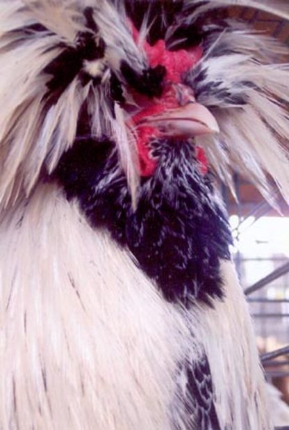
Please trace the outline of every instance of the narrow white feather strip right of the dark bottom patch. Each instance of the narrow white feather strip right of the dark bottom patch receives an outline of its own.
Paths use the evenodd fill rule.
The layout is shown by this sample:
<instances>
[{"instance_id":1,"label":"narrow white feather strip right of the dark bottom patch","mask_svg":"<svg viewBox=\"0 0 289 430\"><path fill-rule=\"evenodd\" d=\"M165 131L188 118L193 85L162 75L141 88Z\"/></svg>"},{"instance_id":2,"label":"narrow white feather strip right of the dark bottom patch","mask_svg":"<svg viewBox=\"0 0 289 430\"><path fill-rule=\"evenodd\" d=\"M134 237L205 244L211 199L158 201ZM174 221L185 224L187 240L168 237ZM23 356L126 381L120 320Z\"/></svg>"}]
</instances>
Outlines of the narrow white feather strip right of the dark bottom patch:
<instances>
[{"instance_id":1,"label":"narrow white feather strip right of the dark bottom patch","mask_svg":"<svg viewBox=\"0 0 289 430\"><path fill-rule=\"evenodd\" d=\"M231 262L222 262L222 278L224 302L197 314L197 340L208 355L220 427L272 429L251 319Z\"/></svg>"}]
</instances>

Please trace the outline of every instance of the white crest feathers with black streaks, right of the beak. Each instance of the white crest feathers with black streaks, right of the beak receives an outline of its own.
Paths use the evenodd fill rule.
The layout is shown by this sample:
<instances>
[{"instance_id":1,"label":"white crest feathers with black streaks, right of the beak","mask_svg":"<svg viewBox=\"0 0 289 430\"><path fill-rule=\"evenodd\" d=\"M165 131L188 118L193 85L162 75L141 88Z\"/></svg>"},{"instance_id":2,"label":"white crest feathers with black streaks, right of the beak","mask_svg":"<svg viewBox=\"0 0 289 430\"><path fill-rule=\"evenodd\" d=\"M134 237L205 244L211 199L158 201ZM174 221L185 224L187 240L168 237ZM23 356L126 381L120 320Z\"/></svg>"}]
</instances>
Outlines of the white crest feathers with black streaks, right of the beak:
<instances>
[{"instance_id":1,"label":"white crest feathers with black streaks, right of the beak","mask_svg":"<svg viewBox=\"0 0 289 430\"><path fill-rule=\"evenodd\" d=\"M267 173L289 201L289 65L279 63L287 47L229 21L187 81L214 113L215 137L197 138L220 179L232 188L231 170L254 182L274 204ZM198 79L202 77L202 79Z\"/></svg>"}]
</instances>

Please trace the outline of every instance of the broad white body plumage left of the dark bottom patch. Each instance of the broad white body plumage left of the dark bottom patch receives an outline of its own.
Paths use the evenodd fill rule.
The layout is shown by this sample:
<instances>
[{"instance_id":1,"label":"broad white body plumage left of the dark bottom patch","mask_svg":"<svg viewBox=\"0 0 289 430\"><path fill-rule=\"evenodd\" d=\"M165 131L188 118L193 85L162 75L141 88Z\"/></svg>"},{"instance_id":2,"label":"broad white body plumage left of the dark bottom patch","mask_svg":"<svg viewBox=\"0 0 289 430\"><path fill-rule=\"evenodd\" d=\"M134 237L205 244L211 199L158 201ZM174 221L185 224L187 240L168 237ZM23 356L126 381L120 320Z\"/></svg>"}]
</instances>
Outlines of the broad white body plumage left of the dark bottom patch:
<instances>
[{"instance_id":1,"label":"broad white body plumage left of the dark bottom patch","mask_svg":"<svg viewBox=\"0 0 289 430\"><path fill-rule=\"evenodd\" d=\"M54 186L0 239L1 427L170 429L190 332L126 250Z\"/></svg>"}]
</instances>

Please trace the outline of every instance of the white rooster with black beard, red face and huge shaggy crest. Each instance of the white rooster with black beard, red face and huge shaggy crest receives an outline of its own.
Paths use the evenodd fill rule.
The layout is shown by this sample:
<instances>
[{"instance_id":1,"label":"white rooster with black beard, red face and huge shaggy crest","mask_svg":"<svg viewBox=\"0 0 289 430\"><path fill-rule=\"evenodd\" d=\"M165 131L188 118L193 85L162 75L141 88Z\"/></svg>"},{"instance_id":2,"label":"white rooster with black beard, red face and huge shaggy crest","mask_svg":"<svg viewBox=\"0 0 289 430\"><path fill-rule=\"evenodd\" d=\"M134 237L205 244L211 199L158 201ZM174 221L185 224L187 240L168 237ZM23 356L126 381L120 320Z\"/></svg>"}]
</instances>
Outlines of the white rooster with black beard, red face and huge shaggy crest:
<instances>
[{"instance_id":1,"label":"white rooster with black beard, red face and huge shaggy crest","mask_svg":"<svg viewBox=\"0 0 289 430\"><path fill-rule=\"evenodd\" d=\"M1 429L272 429L215 183L289 200L271 3L0 1Z\"/></svg>"}]
</instances>

